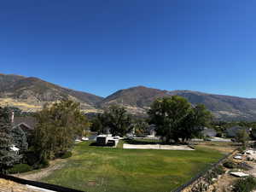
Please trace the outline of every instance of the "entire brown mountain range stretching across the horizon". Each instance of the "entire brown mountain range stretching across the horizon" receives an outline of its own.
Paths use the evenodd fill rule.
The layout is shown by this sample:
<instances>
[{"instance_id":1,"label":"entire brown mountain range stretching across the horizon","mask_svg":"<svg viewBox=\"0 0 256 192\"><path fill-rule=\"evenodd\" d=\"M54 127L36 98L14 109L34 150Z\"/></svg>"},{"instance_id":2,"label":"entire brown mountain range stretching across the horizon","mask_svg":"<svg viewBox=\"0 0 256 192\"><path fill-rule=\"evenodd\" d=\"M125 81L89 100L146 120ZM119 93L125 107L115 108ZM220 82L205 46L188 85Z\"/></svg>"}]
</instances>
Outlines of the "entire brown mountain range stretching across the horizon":
<instances>
[{"instance_id":1,"label":"entire brown mountain range stretching across the horizon","mask_svg":"<svg viewBox=\"0 0 256 192\"><path fill-rule=\"evenodd\" d=\"M130 113L144 114L159 97L183 96L193 105L205 104L220 120L256 120L256 99L207 94L192 90L158 90L144 86L118 90L107 97L71 90L42 79L14 74L0 74L0 104L37 111L45 103L72 99L81 103L86 113L101 112L112 104L127 108Z\"/></svg>"}]
</instances>

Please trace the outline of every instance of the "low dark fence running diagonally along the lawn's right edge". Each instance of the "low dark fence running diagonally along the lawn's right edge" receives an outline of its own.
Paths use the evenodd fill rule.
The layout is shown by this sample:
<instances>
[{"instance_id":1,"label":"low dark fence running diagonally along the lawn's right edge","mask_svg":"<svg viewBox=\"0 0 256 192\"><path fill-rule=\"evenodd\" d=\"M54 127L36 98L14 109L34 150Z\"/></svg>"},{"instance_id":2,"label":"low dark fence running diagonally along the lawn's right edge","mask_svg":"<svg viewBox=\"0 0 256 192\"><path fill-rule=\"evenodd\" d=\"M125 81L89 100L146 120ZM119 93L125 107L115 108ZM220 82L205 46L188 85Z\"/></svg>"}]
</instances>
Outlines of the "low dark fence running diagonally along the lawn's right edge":
<instances>
[{"instance_id":1,"label":"low dark fence running diagonally along the lawn's right edge","mask_svg":"<svg viewBox=\"0 0 256 192\"><path fill-rule=\"evenodd\" d=\"M237 148L235 150L233 150L232 152L230 152L230 154L226 154L224 155L223 158L221 158L220 160L218 160L218 162L214 163L212 166L207 167L207 169L203 170L202 172L199 172L195 177L191 178L189 180L189 182L184 183L182 186L178 187L177 189L174 189L172 192L181 192L183 189L189 187L191 184L195 183L195 181L197 181L199 178L205 176L207 174L208 171L212 170L213 168L217 167L221 162L223 162L224 160L226 160L227 158L230 157L231 154L234 154L235 151L237 150Z\"/></svg>"}]
</instances>

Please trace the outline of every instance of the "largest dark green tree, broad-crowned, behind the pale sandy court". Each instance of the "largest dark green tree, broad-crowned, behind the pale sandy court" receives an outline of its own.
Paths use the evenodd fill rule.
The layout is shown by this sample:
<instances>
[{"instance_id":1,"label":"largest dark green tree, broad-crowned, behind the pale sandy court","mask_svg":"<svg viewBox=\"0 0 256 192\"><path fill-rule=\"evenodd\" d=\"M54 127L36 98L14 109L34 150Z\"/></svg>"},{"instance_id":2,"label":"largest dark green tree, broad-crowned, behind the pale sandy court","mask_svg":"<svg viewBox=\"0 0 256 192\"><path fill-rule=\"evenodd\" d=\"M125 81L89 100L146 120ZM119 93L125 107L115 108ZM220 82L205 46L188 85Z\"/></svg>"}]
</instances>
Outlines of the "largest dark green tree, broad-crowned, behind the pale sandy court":
<instances>
[{"instance_id":1,"label":"largest dark green tree, broad-crowned, behind the pale sandy court","mask_svg":"<svg viewBox=\"0 0 256 192\"><path fill-rule=\"evenodd\" d=\"M199 136L204 125L211 119L211 113L203 105L195 108L183 97L159 98L148 110L149 122L156 125L156 133L166 143L174 140L183 142Z\"/></svg>"}]
</instances>

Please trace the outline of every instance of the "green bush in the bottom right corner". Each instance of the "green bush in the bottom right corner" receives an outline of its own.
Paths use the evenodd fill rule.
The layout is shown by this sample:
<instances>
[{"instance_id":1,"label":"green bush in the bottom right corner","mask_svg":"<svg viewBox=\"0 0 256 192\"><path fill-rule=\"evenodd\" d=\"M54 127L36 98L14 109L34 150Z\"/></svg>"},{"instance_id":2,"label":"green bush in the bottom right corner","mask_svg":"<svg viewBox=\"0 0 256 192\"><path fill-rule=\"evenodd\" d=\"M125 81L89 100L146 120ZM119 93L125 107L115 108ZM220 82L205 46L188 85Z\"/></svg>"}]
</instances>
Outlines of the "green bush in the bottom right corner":
<instances>
[{"instance_id":1,"label":"green bush in the bottom right corner","mask_svg":"<svg viewBox=\"0 0 256 192\"><path fill-rule=\"evenodd\" d=\"M250 192L256 188L256 180L254 177L240 178L234 184L233 191L236 192Z\"/></svg>"}]
</instances>

